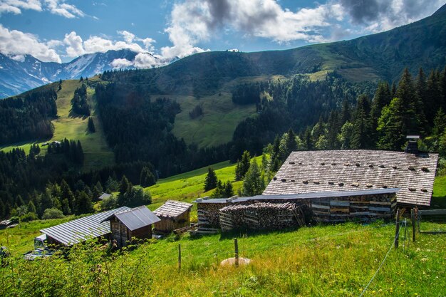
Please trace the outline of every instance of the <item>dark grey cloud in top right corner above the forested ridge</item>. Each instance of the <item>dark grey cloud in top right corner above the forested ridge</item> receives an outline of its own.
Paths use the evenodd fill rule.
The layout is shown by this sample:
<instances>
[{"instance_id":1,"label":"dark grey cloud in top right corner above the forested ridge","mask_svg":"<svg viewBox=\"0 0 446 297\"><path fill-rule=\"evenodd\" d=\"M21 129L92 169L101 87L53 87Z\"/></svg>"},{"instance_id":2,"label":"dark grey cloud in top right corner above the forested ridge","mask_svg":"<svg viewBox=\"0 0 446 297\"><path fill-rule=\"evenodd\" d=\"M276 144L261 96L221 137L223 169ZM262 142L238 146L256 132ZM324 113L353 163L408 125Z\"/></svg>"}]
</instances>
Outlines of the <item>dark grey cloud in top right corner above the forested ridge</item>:
<instances>
[{"instance_id":1,"label":"dark grey cloud in top right corner above the forested ridge","mask_svg":"<svg viewBox=\"0 0 446 297\"><path fill-rule=\"evenodd\" d=\"M444 0L340 0L351 22L378 32L429 16Z\"/></svg>"}]
</instances>

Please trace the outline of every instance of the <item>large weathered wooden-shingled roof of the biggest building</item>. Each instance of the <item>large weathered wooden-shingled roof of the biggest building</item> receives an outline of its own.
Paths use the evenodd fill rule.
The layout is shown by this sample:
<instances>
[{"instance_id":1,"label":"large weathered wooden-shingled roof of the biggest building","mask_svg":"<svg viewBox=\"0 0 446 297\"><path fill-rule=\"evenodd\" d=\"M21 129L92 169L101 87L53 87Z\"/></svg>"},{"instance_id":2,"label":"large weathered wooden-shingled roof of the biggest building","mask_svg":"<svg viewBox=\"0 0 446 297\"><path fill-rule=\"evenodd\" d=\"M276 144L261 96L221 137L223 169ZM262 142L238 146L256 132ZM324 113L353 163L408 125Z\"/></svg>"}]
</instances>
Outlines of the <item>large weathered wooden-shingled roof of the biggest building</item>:
<instances>
[{"instance_id":1,"label":"large weathered wooden-shingled roof of the biggest building","mask_svg":"<svg viewBox=\"0 0 446 297\"><path fill-rule=\"evenodd\" d=\"M400 204L430 205L438 155L384 150L292 152L264 195L400 188Z\"/></svg>"}]
</instances>

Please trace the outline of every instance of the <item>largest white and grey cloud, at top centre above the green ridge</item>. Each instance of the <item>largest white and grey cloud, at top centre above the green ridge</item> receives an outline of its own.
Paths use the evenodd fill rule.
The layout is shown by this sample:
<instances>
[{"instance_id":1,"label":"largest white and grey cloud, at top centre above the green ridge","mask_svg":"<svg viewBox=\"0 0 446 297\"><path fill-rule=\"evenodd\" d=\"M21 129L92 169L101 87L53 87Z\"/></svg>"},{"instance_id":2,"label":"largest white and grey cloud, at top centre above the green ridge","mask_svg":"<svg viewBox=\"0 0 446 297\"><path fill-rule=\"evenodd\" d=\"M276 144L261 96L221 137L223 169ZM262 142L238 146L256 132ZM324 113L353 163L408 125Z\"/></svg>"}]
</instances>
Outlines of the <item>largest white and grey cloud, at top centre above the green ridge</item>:
<instances>
[{"instance_id":1,"label":"largest white and grey cloud, at top centre above the green ridge","mask_svg":"<svg viewBox=\"0 0 446 297\"><path fill-rule=\"evenodd\" d=\"M181 57L202 51L194 45L224 28L279 43L325 41L318 29L342 21L343 16L341 4L331 2L290 11L275 0L186 0L173 6L165 29L173 46L162 48L162 54Z\"/></svg>"}]
</instances>

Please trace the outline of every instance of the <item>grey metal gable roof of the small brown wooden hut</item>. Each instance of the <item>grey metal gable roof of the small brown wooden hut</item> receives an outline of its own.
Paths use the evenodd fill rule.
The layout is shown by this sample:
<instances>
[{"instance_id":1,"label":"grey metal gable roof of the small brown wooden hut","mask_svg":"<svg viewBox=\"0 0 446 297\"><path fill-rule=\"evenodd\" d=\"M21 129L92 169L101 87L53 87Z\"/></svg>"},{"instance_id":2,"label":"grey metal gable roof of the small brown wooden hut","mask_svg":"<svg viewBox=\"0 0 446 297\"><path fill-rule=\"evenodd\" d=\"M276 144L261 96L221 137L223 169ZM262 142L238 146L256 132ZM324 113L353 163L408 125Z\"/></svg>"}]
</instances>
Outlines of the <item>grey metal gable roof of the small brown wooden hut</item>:
<instances>
[{"instance_id":1,"label":"grey metal gable roof of the small brown wooden hut","mask_svg":"<svg viewBox=\"0 0 446 297\"><path fill-rule=\"evenodd\" d=\"M109 221L112 217L116 217L120 220L120 222L130 229L130 231L161 221L160 218L155 216L155 214L145 207L145 205L112 214L110 217L104 219L103 222Z\"/></svg>"}]
</instances>

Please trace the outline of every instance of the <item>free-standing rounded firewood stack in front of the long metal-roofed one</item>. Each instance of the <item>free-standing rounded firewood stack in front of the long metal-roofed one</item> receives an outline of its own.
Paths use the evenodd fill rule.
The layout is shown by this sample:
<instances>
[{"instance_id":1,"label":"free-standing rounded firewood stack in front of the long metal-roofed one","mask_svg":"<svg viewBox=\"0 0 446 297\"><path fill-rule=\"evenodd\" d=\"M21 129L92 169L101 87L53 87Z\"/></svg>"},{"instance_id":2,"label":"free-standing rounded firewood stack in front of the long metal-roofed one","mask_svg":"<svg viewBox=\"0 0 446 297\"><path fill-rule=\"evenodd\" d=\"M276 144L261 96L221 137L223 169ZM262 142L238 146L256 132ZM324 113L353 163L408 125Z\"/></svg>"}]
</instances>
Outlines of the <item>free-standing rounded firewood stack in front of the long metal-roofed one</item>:
<instances>
[{"instance_id":1,"label":"free-standing rounded firewood stack in front of the long metal-roofed one","mask_svg":"<svg viewBox=\"0 0 446 297\"><path fill-rule=\"evenodd\" d=\"M219 209L222 231L247 229L284 229L305 224L304 212L295 203L232 204Z\"/></svg>"}]
</instances>

